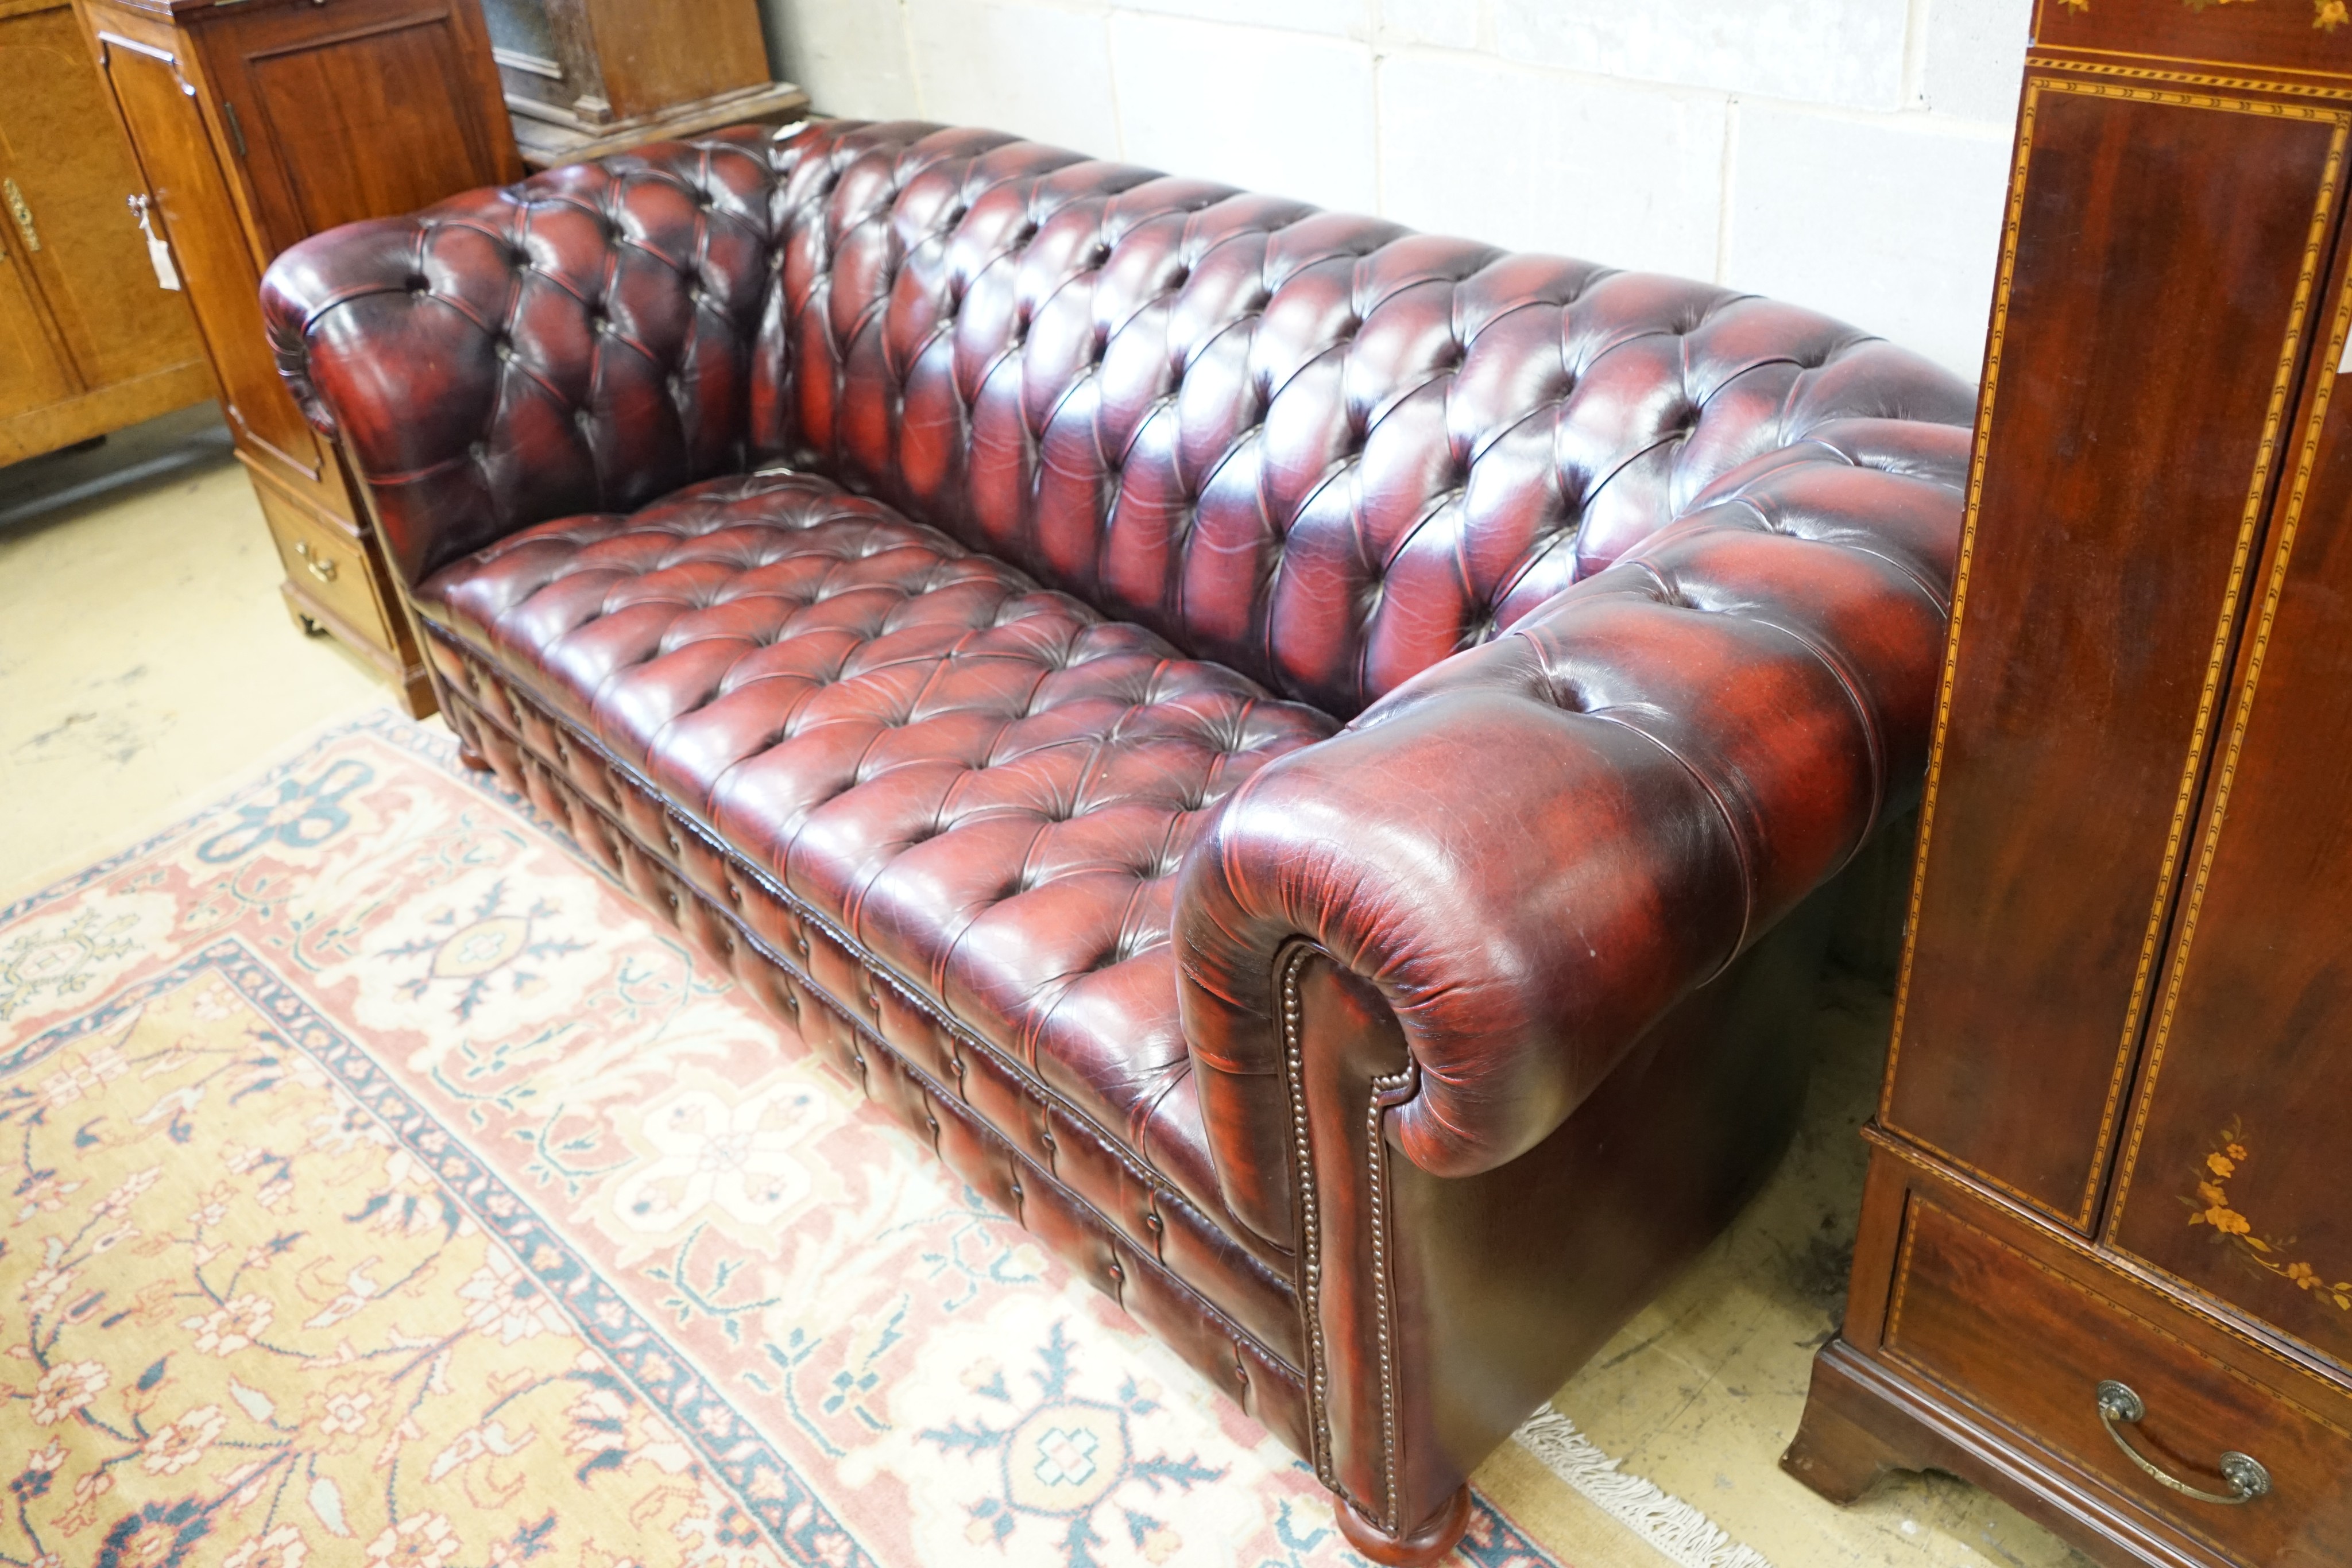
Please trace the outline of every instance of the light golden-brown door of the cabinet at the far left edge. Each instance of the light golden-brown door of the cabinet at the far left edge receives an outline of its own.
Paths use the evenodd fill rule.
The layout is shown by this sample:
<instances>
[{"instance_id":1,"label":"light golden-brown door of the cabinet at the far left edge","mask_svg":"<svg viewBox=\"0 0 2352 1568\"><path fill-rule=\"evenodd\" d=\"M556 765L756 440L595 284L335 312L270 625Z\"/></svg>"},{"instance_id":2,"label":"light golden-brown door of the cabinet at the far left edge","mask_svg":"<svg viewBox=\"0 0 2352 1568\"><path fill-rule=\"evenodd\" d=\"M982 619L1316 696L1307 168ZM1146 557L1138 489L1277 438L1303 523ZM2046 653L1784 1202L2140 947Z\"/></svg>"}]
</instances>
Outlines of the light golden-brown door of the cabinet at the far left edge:
<instances>
[{"instance_id":1,"label":"light golden-brown door of the cabinet at the far left edge","mask_svg":"<svg viewBox=\"0 0 2352 1568\"><path fill-rule=\"evenodd\" d=\"M71 5L0 19L0 160L40 226L40 252L21 259L82 381L103 388L200 357L188 303L155 282L127 207L139 172Z\"/></svg>"}]
</instances>

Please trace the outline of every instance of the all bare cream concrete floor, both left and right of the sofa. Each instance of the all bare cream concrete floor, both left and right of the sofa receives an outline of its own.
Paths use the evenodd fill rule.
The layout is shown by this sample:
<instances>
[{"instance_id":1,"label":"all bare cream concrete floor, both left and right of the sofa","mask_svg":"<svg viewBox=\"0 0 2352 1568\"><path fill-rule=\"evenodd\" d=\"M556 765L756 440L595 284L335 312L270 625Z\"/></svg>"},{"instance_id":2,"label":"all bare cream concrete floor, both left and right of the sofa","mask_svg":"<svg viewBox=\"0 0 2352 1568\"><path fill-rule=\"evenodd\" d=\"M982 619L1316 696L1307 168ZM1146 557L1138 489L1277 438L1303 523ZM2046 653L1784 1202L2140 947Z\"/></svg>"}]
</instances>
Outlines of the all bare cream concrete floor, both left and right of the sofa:
<instances>
[{"instance_id":1,"label":"all bare cream concrete floor, both left and right of the sofa","mask_svg":"<svg viewBox=\"0 0 2352 1568\"><path fill-rule=\"evenodd\" d=\"M122 465L160 473L21 517ZM386 701L355 658L292 628L278 581L209 407L92 454L0 468L0 900L174 820L308 729ZM1886 1016L1882 987L1832 976L1790 1159L1555 1403L1630 1474L1708 1512L1776 1568L2089 1568L1950 1476L1893 1476L1837 1509L1776 1465L1844 1300L1863 1185L1856 1128ZM1477 1481L1564 1563L1668 1561L1517 1446Z\"/></svg>"}]
</instances>

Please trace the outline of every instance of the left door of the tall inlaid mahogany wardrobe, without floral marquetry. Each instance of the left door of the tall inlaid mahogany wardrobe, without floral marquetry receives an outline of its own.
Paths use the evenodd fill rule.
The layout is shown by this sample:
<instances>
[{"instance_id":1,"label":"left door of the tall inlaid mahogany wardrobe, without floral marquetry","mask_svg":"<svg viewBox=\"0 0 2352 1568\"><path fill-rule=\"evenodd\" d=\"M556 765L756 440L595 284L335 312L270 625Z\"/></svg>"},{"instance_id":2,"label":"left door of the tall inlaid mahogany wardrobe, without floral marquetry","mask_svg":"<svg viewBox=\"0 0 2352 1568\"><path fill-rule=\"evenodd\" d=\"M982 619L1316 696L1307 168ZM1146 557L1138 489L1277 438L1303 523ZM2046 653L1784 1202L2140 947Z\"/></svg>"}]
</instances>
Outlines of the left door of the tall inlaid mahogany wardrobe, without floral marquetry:
<instances>
[{"instance_id":1,"label":"left door of the tall inlaid mahogany wardrobe, without floral marquetry","mask_svg":"<svg viewBox=\"0 0 2352 1568\"><path fill-rule=\"evenodd\" d=\"M1882 1121L2082 1232L2347 125L2324 96L2027 73Z\"/></svg>"}]
</instances>

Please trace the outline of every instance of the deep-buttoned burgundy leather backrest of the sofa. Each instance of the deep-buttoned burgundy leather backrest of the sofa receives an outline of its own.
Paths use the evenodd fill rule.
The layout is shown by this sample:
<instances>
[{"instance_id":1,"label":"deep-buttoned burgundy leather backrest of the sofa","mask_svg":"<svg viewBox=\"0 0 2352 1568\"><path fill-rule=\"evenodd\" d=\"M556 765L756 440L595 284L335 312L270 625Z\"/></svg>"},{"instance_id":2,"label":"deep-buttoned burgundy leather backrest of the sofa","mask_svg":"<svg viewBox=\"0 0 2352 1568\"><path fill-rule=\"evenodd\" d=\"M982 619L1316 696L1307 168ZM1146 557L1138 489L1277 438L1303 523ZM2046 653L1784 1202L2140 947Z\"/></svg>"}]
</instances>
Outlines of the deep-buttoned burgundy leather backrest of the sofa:
<instances>
[{"instance_id":1,"label":"deep-buttoned burgundy leather backrest of the sofa","mask_svg":"<svg viewBox=\"0 0 2352 1568\"><path fill-rule=\"evenodd\" d=\"M753 440L1352 715L1832 416L1969 416L1851 327L985 132L790 162Z\"/></svg>"}]
</instances>

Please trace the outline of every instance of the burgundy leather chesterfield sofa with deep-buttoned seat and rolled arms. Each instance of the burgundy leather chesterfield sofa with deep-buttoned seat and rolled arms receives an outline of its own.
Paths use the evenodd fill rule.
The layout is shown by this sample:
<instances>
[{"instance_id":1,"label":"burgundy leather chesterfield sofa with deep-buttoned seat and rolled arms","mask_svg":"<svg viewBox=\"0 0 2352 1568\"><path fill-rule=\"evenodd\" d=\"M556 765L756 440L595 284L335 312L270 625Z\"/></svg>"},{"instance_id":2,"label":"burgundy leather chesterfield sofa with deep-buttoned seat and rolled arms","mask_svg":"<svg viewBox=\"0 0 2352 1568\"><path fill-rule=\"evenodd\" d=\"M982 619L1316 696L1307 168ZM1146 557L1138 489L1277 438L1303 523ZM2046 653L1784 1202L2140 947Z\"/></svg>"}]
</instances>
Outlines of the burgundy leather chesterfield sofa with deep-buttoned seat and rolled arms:
<instances>
[{"instance_id":1,"label":"burgundy leather chesterfield sofa with deep-buttoned seat and rolled arms","mask_svg":"<svg viewBox=\"0 0 2352 1568\"><path fill-rule=\"evenodd\" d=\"M1806 310L922 125L287 252L496 769L1378 1561L1752 1192L1917 790L1971 393Z\"/></svg>"}]
</instances>

